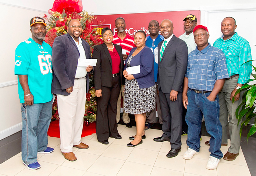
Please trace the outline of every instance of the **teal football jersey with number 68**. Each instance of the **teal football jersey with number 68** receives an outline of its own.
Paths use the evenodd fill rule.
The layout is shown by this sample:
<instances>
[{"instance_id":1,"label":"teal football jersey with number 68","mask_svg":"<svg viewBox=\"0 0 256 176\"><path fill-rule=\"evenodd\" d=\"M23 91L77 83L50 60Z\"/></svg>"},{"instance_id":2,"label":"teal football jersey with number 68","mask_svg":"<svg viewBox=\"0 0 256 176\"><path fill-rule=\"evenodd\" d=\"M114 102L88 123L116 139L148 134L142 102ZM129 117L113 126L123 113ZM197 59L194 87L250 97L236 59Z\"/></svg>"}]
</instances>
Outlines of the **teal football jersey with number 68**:
<instances>
[{"instance_id":1,"label":"teal football jersey with number 68","mask_svg":"<svg viewBox=\"0 0 256 176\"><path fill-rule=\"evenodd\" d=\"M42 46L32 38L23 41L15 50L15 69L16 75L28 75L28 86L34 96L34 103L49 102L51 94L52 49L49 44L43 41ZM24 103L24 91L19 83L19 99Z\"/></svg>"}]
</instances>

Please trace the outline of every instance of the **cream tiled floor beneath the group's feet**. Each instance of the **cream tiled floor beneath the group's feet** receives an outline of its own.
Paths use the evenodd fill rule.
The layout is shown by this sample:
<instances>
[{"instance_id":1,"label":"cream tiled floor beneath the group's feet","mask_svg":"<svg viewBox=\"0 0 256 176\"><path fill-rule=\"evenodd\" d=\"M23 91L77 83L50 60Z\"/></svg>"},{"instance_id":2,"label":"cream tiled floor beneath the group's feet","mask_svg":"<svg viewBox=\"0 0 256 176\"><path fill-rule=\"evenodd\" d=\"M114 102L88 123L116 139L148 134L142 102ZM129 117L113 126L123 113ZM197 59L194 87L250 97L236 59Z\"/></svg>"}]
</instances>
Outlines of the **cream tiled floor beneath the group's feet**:
<instances>
[{"instance_id":1,"label":"cream tiled floor beneath the group's feet","mask_svg":"<svg viewBox=\"0 0 256 176\"><path fill-rule=\"evenodd\" d=\"M0 165L0 176L250 176L248 166L240 149L234 161L221 159L218 168L205 168L209 159L209 147L205 141L210 137L202 136L200 153L190 160L182 155L186 151L186 137L182 136L182 150L177 157L167 158L171 149L169 142L154 142L154 137L162 135L161 130L148 129L143 144L127 147L128 137L136 134L136 127L126 128L118 125L121 140L109 138L109 145L97 141L96 134L83 137L82 142L89 145L87 150L73 148L77 161L67 161L60 151L60 138L49 137L49 146L55 151L50 154L38 154L41 168L28 170L22 164L21 153ZM228 147L221 147L225 154Z\"/></svg>"}]
</instances>

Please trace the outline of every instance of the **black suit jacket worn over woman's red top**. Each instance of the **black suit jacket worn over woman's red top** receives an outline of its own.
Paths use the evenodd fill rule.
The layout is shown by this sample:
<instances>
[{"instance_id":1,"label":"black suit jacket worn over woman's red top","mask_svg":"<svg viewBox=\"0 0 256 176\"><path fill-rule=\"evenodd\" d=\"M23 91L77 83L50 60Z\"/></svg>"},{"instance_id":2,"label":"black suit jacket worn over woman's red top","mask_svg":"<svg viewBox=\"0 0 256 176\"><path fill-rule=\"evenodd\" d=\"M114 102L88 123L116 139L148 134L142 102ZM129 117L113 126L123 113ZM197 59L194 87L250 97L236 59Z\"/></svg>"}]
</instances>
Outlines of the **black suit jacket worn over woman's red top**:
<instances>
[{"instance_id":1,"label":"black suit jacket worn over woman's red top","mask_svg":"<svg viewBox=\"0 0 256 176\"><path fill-rule=\"evenodd\" d=\"M114 44L115 49L117 50L120 56L120 84L122 84L124 70L124 61L122 58L122 48L120 45ZM112 59L107 49L106 44L97 45L93 50L93 58L98 59L97 64L93 71L95 90L102 89L104 87L112 87Z\"/></svg>"}]
</instances>

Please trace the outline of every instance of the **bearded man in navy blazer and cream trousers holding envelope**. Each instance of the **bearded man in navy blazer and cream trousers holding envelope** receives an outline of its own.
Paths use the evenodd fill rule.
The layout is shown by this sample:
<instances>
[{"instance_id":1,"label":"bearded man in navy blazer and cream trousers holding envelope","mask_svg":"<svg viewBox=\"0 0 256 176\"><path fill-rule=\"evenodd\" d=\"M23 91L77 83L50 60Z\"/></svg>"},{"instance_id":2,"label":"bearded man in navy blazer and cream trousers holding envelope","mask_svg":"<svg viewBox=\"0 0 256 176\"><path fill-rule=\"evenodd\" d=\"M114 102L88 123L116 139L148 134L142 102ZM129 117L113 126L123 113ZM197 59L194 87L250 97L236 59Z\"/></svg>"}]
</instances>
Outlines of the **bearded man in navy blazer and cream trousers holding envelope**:
<instances>
[{"instance_id":1,"label":"bearded man in navy blazer and cream trousers holding envelope","mask_svg":"<svg viewBox=\"0 0 256 176\"><path fill-rule=\"evenodd\" d=\"M77 159L73 147L89 147L81 142L81 134L86 92L89 90L87 72L93 67L83 67L78 62L79 59L92 58L89 44L79 37L82 32L81 22L72 19L68 23L68 34L56 37L53 43L51 92L58 98L60 150L69 161Z\"/></svg>"}]
</instances>

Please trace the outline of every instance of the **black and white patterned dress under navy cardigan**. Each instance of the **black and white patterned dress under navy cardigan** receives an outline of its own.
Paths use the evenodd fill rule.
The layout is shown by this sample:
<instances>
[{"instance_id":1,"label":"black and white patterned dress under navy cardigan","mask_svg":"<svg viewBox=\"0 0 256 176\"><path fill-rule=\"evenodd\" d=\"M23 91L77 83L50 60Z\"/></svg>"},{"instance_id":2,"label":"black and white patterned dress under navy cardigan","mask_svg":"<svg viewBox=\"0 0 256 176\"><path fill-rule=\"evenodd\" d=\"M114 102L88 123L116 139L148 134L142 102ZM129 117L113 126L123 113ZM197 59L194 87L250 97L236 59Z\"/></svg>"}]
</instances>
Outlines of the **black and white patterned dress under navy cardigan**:
<instances>
[{"instance_id":1,"label":"black and white patterned dress under navy cardigan","mask_svg":"<svg viewBox=\"0 0 256 176\"><path fill-rule=\"evenodd\" d=\"M134 56L127 60L127 67ZM139 88L136 79L125 79L124 111L129 114L142 114L156 107L156 85L149 88Z\"/></svg>"}]
</instances>

